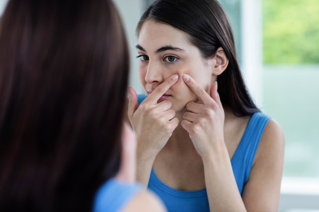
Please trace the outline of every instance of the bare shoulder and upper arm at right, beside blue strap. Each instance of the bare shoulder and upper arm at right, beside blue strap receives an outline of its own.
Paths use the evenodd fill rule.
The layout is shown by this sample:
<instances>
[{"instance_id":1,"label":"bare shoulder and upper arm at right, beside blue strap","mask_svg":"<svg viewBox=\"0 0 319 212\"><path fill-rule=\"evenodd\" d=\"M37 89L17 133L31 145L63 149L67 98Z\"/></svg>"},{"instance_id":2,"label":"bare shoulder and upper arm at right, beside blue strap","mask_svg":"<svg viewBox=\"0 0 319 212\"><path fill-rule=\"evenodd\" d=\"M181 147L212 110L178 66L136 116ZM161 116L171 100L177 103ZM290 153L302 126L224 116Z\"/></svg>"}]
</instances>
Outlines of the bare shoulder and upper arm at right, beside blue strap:
<instances>
[{"instance_id":1,"label":"bare shoulder and upper arm at right, beside blue strap","mask_svg":"<svg viewBox=\"0 0 319 212\"><path fill-rule=\"evenodd\" d=\"M261 136L248 182L243 190L247 211L277 211L284 158L284 133L270 119Z\"/></svg>"}]
</instances>

